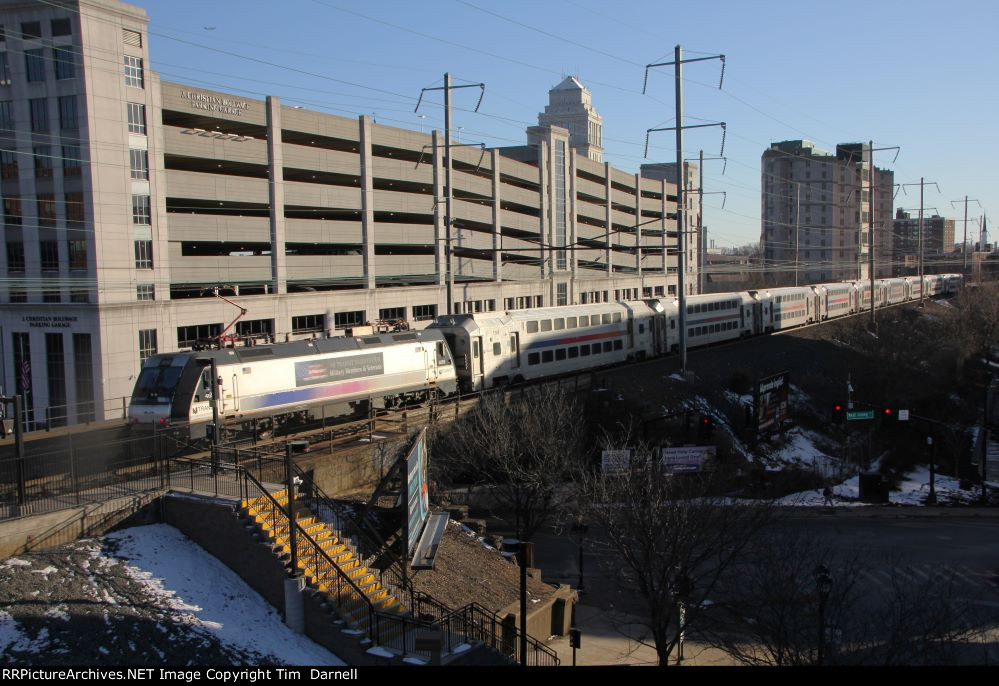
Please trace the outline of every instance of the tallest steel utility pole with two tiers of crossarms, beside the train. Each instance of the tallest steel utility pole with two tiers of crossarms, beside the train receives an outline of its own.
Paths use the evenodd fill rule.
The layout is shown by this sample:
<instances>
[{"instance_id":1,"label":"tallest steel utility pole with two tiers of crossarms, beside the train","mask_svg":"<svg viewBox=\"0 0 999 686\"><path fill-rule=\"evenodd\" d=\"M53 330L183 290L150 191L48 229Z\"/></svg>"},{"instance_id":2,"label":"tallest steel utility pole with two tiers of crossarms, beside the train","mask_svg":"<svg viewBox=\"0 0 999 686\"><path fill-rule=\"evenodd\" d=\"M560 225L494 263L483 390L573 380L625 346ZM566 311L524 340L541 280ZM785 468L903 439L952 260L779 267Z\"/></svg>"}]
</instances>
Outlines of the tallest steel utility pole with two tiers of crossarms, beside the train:
<instances>
[{"instance_id":1,"label":"tallest steel utility pole with two tiers of crossarms, beside the train","mask_svg":"<svg viewBox=\"0 0 999 686\"><path fill-rule=\"evenodd\" d=\"M684 272L686 271L686 226L685 219L687 213L683 211L684 203L686 202L687 195L687 174L683 169L683 130L703 128L707 126L721 126L722 127L722 144L721 152L719 157L725 155L725 122L717 122L714 124L693 124L690 126L683 125L683 63L684 62L704 62L706 60L721 60L722 70L721 77L718 80L718 89L721 90L722 82L725 79L725 55L711 55L710 57L694 57L688 60L683 59L683 48L677 45L673 49L673 61L672 62L660 62L658 64L647 64L645 65L645 84L642 87L642 94L645 94L646 86L649 82L649 69L652 67L665 67L673 66L673 76L675 81L675 93L676 93L676 126L659 128L659 129L647 129L645 132L645 156L649 155L649 134L653 131L669 131L671 129L676 131L676 232L677 232L677 256L676 256L676 273L677 273L677 304L679 306L679 326L680 326L680 372L686 376L687 374L687 304L686 304L686 286L684 279Z\"/></svg>"}]
</instances>

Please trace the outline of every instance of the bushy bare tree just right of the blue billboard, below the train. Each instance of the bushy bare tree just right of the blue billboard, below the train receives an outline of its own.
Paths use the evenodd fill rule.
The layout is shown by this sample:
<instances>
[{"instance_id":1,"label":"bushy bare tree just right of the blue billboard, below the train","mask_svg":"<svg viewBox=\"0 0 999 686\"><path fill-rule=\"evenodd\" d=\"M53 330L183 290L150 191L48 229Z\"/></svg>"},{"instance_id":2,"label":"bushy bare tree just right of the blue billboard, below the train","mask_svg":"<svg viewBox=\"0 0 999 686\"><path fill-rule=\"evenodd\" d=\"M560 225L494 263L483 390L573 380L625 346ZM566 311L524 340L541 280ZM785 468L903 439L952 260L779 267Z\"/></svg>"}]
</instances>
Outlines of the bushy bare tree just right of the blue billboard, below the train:
<instances>
[{"instance_id":1,"label":"bushy bare tree just right of the blue billboard, below the train","mask_svg":"<svg viewBox=\"0 0 999 686\"><path fill-rule=\"evenodd\" d=\"M570 502L584 433L576 402L556 385L521 398L497 391L434 435L435 474L484 487L491 513L529 541Z\"/></svg>"}]
</instances>

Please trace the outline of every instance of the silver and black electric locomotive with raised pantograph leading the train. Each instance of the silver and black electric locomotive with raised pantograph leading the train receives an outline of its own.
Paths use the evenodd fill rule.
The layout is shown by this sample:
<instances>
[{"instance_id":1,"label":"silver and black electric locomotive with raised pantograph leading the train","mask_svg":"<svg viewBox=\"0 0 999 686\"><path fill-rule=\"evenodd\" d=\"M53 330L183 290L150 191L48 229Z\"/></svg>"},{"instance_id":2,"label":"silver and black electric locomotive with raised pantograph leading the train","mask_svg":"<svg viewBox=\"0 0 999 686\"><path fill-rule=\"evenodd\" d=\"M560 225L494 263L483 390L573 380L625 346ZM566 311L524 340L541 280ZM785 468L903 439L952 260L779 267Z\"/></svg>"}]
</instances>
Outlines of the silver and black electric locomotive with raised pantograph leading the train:
<instances>
[{"instance_id":1,"label":"silver and black electric locomotive with raised pantograph leading the train","mask_svg":"<svg viewBox=\"0 0 999 686\"><path fill-rule=\"evenodd\" d=\"M200 438L217 412L223 424L262 434L291 421L333 417L369 399L389 407L455 391L439 331L321 338L153 355L136 380L129 419L185 424L191 438Z\"/></svg>"}]
</instances>

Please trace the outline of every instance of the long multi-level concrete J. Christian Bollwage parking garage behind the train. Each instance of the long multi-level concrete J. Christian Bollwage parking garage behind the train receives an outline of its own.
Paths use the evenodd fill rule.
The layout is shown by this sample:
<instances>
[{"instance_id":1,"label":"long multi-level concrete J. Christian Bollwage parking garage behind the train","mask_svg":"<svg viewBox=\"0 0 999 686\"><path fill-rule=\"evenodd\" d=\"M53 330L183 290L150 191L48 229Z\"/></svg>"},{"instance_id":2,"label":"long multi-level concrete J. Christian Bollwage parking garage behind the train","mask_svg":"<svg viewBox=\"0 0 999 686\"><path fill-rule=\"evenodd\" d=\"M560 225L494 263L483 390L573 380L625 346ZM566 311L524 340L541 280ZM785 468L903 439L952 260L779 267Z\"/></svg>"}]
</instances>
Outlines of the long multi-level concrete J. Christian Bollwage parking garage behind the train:
<instances>
[{"instance_id":1,"label":"long multi-level concrete J. Christian Bollwage parking garage behind the train","mask_svg":"<svg viewBox=\"0 0 999 686\"><path fill-rule=\"evenodd\" d=\"M121 416L143 359L239 308L256 341L445 312L441 132L161 81L116 0L0 25L0 383L34 426ZM675 187L571 136L452 149L455 311L675 292Z\"/></svg>"}]
</instances>

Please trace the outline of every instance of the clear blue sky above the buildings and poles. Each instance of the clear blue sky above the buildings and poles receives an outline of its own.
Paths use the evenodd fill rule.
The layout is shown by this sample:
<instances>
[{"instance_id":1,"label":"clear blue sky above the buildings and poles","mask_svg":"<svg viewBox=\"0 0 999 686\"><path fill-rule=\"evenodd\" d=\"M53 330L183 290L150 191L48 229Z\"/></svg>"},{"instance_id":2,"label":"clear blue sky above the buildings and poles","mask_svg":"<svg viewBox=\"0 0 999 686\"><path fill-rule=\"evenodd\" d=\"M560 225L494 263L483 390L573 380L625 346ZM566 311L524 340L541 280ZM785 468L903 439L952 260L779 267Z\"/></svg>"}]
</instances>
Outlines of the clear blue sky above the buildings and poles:
<instances>
[{"instance_id":1,"label":"clear blue sky above the buildings and poles","mask_svg":"<svg viewBox=\"0 0 999 686\"><path fill-rule=\"evenodd\" d=\"M457 91L454 126L463 141L519 145L537 124L548 89L578 75L604 118L605 159L627 171L645 161L672 161L672 68L660 68L643 96L644 66L725 53L719 65L684 68L685 123L728 123L721 162L706 165L709 237L719 246L759 240L760 155L772 141L807 138L833 150L838 142L873 139L898 145L879 153L897 183L924 176L925 206L959 220L965 194L995 211L999 238L999 157L995 41L999 4L915 0L667 2L665 0L149 0L152 66L166 80L247 95L341 116L374 114L403 128L443 128L440 92L413 113L423 87L484 82ZM210 48L210 49L209 49ZM247 59L251 58L251 59ZM272 66L272 63L274 66ZM690 131L685 156L717 155L716 129ZM916 207L918 188L896 207ZM982 208L972 203L969 216ZM977 228L969 222L969 236Z\"/></svg>"}]
</instances>

